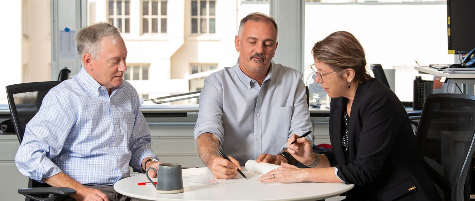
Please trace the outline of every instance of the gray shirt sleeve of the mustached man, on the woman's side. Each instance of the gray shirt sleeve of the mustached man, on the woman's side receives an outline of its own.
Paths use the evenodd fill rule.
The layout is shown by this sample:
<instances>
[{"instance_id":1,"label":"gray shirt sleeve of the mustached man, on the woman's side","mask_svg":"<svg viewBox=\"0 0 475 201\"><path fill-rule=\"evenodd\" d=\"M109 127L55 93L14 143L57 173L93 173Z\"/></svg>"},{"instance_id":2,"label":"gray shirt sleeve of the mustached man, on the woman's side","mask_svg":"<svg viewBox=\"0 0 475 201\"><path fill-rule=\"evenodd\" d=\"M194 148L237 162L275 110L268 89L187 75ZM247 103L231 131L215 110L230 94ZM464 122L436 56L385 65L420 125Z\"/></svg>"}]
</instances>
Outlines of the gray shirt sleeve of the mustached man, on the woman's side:
<instances>
[{"instance_id":1,"label":"gray shirt sleeve of the mustached man, on the woman's side","mask_svg":"<svg viewBox=\"0 0 475 201\"><path fill-rule=\"evenodd\" d=\"M295 90L294 110L292 111L292 120L290 121L289 137L292 134L303 135L311 130L310 111L308 110L307 95L305 94L305 84L302 81L302 73L299 73L297 80L297 89ZM308 135L307 140L314 143L314 135ZM287 148L286 145L282 149Z\"/></svg>"}]
</instances>

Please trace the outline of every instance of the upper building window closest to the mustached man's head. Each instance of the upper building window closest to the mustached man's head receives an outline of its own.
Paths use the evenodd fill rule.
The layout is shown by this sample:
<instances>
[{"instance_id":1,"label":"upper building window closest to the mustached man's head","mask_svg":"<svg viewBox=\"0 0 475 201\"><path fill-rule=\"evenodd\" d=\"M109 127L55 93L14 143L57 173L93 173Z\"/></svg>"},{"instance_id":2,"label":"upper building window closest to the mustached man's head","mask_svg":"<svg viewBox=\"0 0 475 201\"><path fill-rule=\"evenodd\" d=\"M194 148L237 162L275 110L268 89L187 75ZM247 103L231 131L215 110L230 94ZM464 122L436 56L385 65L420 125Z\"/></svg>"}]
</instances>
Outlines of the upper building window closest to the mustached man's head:
<instances>
[{"instance_id":1,"label":"upper building window closest to the mustached man's head","mask_svg":"<svg viewBox=\"0 0 475 201\"><path fill-rule=\"evenodd\" d=\"M216 33L216 0L191 0L191 33Z\"/></svg>"}]
</instances>

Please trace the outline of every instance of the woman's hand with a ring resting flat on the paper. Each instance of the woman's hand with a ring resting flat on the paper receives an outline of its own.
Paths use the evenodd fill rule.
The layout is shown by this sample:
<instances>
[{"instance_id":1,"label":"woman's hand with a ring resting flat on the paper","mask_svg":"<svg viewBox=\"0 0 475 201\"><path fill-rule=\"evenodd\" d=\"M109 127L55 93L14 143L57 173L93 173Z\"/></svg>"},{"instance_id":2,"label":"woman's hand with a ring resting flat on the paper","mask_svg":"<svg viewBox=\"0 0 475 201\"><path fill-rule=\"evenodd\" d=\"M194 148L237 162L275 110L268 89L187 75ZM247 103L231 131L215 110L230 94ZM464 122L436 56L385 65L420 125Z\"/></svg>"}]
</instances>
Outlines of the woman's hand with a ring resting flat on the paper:
<instances>
[{"instance_id":1,"label":"woman's hand with a ring resting flat on the paper","mask_svg":"<svg viewBox=\"0 0 475 201\"><path fill-rule=\"evenodd\" d=\"M300 169L291 164L281 164L283 167L277 168L267 174L262 175L259 182L272 183L299 183L304 182L308 178L310 168Z\"/></svg>"}]
</instances>

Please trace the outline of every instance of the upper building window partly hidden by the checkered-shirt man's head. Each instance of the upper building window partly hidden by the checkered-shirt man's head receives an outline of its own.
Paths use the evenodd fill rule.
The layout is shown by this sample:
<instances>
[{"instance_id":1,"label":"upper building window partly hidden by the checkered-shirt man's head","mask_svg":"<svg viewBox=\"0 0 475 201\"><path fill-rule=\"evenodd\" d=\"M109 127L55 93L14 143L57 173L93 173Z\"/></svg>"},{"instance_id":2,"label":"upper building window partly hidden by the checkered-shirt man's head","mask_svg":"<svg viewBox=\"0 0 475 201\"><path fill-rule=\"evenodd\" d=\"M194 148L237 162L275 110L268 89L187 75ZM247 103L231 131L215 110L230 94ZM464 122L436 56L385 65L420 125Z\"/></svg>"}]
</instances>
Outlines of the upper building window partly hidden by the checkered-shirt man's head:
<instances>
[{"instance_id":1,"label":"upper building window partly hidden by the checkered-shirt man's head","mask_svg":"<svg viewBox=\"0 0 475 201\"><path fill-rule=\"evenodd\" d=\"M109 0L107 16L109 24L120 28L122 33L130 33L130 0Z\"/></svg>"}]
</instances>

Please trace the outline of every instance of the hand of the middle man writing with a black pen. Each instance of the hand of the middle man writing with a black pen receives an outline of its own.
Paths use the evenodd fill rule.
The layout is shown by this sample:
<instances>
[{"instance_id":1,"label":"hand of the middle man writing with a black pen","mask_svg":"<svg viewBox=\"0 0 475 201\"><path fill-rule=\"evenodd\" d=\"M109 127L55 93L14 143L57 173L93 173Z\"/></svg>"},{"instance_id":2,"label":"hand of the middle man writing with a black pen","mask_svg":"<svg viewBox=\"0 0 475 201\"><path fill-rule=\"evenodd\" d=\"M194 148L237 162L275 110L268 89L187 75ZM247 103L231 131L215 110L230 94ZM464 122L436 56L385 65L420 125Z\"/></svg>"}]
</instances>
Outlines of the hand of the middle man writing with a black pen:
<instances>
[{"instance_id":1,"label":"hand of the middle man writing with a black pen","mask_svg":"<svg viewBox=\"0 0 475 201\"><path fill-rule=\"evenodd\" d=\"M231 156L228 156L228 158L232 163L223 157L216 156L212 159L210 165L208 165L216 179L234 178L238 174L237 169L241 170L241 166L236 159Z\"/></svg>"}]
</instances>

